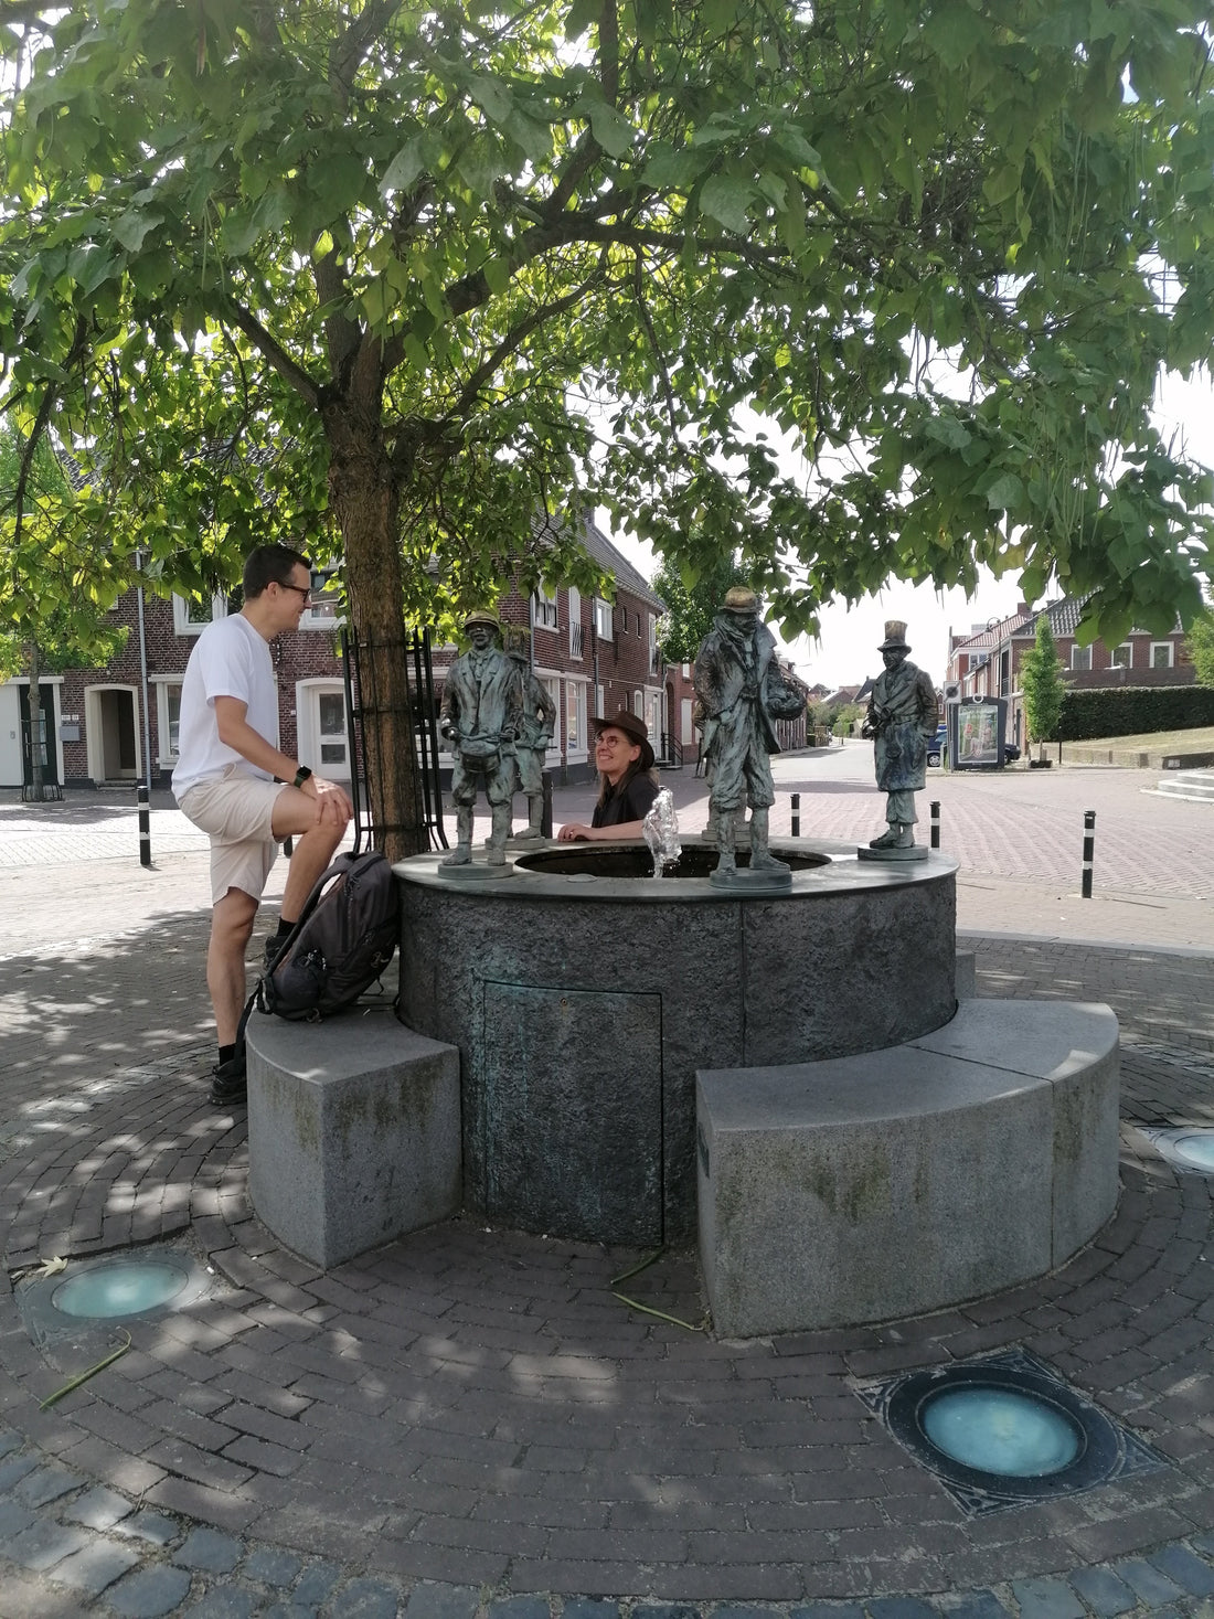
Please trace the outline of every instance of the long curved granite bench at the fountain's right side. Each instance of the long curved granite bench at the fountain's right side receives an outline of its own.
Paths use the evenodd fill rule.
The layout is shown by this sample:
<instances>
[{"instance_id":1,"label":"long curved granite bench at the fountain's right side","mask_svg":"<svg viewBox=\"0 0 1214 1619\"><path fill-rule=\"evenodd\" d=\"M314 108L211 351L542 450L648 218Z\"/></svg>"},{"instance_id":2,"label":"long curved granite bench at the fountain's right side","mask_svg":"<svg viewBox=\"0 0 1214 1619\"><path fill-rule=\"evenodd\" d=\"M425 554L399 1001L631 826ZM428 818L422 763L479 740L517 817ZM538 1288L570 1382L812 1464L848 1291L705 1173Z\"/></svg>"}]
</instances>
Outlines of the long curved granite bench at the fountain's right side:
<instances>
[{"instance_id":1,"label":"long curved granite bench at the fountain's right side","mask_svg":"<svg viewBox=\"0 0 1214 1619\"><path fill-rule=\"evenodd\" d=\"M701 1070L699 1256L724 1337L923 1315L1055 1269L1117 1206L1117 1018L961 1001L932 1035Z\"/></svg>"}]
</instances>

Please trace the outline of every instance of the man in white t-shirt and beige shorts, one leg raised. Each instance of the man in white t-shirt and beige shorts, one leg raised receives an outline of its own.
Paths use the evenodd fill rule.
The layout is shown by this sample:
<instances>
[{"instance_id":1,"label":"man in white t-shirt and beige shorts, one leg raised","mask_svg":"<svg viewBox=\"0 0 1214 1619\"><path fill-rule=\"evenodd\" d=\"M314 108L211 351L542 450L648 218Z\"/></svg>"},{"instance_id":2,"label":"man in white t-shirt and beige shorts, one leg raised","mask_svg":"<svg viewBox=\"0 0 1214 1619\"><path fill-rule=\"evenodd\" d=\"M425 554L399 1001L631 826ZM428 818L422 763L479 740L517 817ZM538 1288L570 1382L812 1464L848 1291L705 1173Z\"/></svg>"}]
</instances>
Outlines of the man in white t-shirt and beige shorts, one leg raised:
<instances>
[{"instance_id":1,"label":"man in white t-shirt and beige shorts, one leg raised","mask_svg":"<svg viewBox=\"0 0 1214 1619\"><path fill-rule=\"evenodd\" d=\"M267 962L277 954L275 942L299 920L353 814L337 782L320 780L278 748L270 641L299 628L311 581L308 557L290 546L249 552L244 606L207 625L181 682L173 797L210 837L207 989L219 1035L210 1099L220 1106L244 1099L244 1049L236 1046L244 952L277 845L296 840L278 933L265 945Z\"/></svg>"}]
</instances>

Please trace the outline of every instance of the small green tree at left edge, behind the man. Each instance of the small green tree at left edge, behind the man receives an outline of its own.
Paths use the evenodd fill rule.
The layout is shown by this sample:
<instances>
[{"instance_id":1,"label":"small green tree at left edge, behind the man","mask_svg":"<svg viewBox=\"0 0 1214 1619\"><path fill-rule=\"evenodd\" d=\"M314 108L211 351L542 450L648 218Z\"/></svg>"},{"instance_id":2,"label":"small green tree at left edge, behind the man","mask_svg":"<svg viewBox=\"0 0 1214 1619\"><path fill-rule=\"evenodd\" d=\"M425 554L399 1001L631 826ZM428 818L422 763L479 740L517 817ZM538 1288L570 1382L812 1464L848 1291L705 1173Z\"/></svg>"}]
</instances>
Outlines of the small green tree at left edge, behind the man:
<instances>
[{"instance_id":1,"label":"small green tree at left edge, behind the man","mask_svg":"<svg viewBox=\"0 0 1214 1619\"><path fill-rule=\"evenodd\" d=\"M79 466L45 436L0 426L0 680L29 680L34 801L44 798L42 675L105 664L126 640L107 617L125 583L107 531L107 508Z\"/></svg>"}]
</instances>

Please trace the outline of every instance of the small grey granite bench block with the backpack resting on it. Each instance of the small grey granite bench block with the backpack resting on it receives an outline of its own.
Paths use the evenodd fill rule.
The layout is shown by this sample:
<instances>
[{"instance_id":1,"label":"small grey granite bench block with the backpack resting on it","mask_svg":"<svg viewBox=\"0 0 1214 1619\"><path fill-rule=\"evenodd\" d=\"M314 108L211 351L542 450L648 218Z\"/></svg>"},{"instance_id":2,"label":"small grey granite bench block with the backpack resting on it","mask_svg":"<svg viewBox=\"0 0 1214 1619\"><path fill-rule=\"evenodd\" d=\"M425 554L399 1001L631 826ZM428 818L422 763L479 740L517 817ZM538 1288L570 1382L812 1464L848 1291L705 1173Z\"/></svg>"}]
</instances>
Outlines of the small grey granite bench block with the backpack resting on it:
<instances>
[{"instance_id":1,"label":"small grey granite bench block with the backpack resting on it","mask_svg":"<svg viewBox=\"0 0 1214 1619\"><path fill-rule=\"evenodd\" d=\"M293 1253L329 1268L455 1214L460 1052L388 1005L324 1023L254 1017L249 1195Z\"/></svg>"}]
</instances>

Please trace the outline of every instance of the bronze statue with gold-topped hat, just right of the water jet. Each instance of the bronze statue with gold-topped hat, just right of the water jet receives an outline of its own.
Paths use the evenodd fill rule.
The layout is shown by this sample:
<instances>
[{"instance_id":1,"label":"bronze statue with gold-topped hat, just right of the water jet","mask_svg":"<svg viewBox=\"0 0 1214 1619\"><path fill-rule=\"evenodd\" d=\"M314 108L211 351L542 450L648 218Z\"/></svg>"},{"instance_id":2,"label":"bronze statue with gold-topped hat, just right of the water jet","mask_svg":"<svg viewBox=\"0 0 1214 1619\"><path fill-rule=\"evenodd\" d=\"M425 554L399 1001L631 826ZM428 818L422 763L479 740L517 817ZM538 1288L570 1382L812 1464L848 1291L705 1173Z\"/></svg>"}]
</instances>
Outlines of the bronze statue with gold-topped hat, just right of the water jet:
<instances>
[{"instance_id":1,"label":"bronze statue with gold-topped hat, just right of the water jet","mask_svg":"<svg viewBox=\"0 0 1214 1619\"><path fill-rule=\"evenodd\" d=\"M780 751L777 719L796 719L804 698L787 685L775 657L775 636L759 622L759 599L745 584L725 593L696 659L694 688L704 711L709 816L720 856L711 881L792 882L788 866L769 848L769 811L775 803L770 754ZM738 874L736 818L751 811L749 873Z\"/></svg>"}]
</instances>

